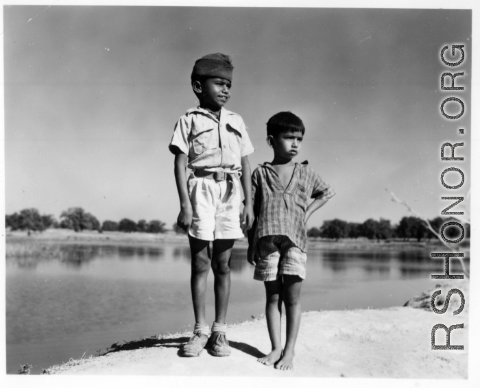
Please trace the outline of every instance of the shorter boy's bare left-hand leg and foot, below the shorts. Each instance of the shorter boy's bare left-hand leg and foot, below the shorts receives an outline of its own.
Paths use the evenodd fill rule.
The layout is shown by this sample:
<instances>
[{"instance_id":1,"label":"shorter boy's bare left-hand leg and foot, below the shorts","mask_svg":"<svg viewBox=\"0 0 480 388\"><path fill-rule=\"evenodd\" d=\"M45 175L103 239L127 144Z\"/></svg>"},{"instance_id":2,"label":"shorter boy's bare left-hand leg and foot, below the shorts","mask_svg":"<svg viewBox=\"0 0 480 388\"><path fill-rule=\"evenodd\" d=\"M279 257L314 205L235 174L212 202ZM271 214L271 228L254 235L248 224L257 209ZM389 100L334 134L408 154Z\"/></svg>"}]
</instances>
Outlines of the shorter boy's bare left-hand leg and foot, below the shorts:
<instances>
[{"instance_id":1,"label":"shorter boy's bare left-hand leg and foot, below the shorts","mask_svg":"<svg viewBox=\"0 0 480 388\"><path fill-rule=\"evenodd\" d=\"M264 282L267 302L265 304L265 315L267 316L267 328L272 352L265 357L256 360L265 365L274 365L282 355L281 341L281 318L282 318L282 278Z\"/></svg>"}]
</instances>

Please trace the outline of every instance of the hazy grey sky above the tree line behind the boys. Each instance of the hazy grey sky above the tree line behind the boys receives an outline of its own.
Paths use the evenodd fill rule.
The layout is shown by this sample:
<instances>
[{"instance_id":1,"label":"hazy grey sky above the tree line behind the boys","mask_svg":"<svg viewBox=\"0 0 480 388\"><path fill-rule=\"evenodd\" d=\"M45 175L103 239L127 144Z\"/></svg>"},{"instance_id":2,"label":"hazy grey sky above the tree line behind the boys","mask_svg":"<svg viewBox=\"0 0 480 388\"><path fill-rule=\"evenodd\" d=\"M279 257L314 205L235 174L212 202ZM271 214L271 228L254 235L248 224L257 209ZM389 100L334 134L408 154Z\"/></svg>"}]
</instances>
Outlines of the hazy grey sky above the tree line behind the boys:
<instances>
[{"instance_id":1,"label":"hazy grey sky above the tree line behind the boys","mask_svg":"<svg viewBox=\"0 0 480 388\"><path fill-rule=\"evenodd\" d=\"M337 191L309 226L397 222L407 210L385 187L436 217L450 203L442 195L465 195L470 186L469 10L5 5L3 12L7 214L35 207L58 218L81 206L100 222L171 226L179 201L167 145L178 118L197 106L193 63L214 52L232 56L226 108L248 126L252 170L272 160L265 143L272 114L291 110L304 121L297 161L309 160ZM467 56L447 68L440 50L452 44L465 45ZM464 71L455 84L465 90L440 90L444 71ZM466 112L449 121L440 104L455 96ZM459 112L451 103L446 110ZM440 145L461 141L455 153L466 161L441 162ZM466 173L462 189L442 187L446 167ZM446 182L459 179L448 173Z\"/></svg>"}]
</instances>

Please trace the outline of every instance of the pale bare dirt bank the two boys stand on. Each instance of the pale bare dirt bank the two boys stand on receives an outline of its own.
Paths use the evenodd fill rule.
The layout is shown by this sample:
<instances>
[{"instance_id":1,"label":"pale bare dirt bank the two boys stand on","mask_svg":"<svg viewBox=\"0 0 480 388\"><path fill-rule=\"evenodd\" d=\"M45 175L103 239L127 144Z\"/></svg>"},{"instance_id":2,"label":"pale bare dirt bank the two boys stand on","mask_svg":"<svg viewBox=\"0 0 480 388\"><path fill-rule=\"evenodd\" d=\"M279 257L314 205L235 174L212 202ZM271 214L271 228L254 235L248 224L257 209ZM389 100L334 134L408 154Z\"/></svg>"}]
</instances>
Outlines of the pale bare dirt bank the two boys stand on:
<instances>
[{"instance_id":1,"label":"pale bare dirt bank the two boys stand on","mask_svg":"<svg viewBox=\"0 0 480 388\"><path fill-rule=\"evenodd\" d=\"M443 284L443 297L448 287L450 284ZM283 372L256 362L270 349L265 319L256 319L229 326L227 338L232 348L229 357L214 357L206 350L196 358L178 356L180 346L191 335L182 333L125 343L103 356L56 365L49 372L70 375L465 379L468 377L468 282L459 280L455 287L466 294L467 300L464 311L455 316L453 311L459 306L457 296L452 297L451 307L443 315L422 308L431 292L424 293L423 302L422 298L413 298L410 306L303 313L292 371ZM464 324L463 330L451 332L451 345L464 345L464 350L431 350L431 329L435 324ZM444 345L445 341L444 330L437 330L437 345ZM73 365L75 363L77 365Z\"/></svg>"}]
</instances>

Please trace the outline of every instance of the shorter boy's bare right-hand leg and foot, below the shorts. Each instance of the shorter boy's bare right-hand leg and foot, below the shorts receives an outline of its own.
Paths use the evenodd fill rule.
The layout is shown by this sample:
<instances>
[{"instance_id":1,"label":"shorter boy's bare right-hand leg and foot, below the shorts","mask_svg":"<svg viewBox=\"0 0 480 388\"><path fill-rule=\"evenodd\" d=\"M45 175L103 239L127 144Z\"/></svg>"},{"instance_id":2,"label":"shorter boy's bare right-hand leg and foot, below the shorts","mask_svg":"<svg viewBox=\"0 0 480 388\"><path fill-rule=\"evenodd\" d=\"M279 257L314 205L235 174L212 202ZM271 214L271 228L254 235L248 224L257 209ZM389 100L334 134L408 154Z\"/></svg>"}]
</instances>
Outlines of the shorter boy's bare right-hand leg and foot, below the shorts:
<instances>
[{"instance_id":1,"label":"shorter boy's bare right-hand leg and foot, below the shorts","mask_svg":"<svg viewBox=\"0 0 480 388\"><path fill-rule=\"evenodd\" d=\"M295 356L295 343L297 341L298 329L302 308L300 306L300 290L302 279L296 275L283 276L283 301L287 315L287 341L280 361L275 365L276 369L288 370L293 368L293 356Z\"/></svg>"}]
</instances>

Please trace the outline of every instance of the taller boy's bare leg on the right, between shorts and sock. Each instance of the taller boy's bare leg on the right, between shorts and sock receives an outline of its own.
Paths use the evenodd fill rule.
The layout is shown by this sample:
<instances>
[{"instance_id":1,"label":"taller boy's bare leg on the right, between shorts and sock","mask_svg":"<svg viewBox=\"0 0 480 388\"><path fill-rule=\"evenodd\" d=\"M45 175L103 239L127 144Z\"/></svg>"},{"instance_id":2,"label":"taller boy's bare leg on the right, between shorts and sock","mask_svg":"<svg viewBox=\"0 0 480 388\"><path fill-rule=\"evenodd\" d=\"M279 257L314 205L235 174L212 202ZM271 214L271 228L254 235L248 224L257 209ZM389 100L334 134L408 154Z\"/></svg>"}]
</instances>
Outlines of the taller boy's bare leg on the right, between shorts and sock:
<instances>
[{"instance_id":1,"label":"taller boy's bare leg on the right, between shorts and sock","mask_svg":"<svg viewBox=\"0 0 480 388\"><path fill-rule=\"evenodd\" d=\"M228 298L230 298L230 256L235 240L213 241L212 270L215 276L215 322L226 323Z\"/></svg>"}]
</instances>

